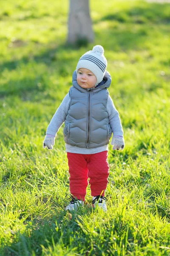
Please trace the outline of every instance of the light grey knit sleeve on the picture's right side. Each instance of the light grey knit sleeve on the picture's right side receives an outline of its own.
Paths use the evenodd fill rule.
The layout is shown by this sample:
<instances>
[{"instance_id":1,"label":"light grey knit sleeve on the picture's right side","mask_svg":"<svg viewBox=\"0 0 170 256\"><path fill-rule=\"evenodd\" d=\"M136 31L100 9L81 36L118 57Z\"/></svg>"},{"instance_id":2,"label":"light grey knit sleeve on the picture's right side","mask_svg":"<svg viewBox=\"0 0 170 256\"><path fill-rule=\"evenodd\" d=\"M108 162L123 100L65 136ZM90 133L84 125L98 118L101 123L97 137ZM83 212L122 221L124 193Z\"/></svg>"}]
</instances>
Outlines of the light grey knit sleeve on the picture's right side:
<instances>
[{"instance_id":1,"label":"light grey knit sleeve on the picture's right side","mask_svg":"<svg viewBox=\"0 0 170 256\"><path fill-rule=\"evenodd\" d=\"M111 125L113 136L123 137L123 128L120 121L119 112L116 110L110 95L108 96L107 111L109 124Z\"/></svg>"}]
</instances>

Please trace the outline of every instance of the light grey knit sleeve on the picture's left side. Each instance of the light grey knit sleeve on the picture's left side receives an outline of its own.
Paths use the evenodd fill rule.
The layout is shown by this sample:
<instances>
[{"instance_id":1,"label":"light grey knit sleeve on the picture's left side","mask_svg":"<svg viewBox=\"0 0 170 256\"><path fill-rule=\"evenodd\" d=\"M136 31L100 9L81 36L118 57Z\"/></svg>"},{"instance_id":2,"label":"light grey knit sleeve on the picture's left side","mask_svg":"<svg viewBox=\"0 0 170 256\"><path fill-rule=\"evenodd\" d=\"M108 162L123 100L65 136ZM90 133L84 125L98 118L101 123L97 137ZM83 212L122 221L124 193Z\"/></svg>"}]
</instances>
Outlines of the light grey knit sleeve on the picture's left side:
<instances>
[{"instance_id":1,"label":"light grey knit sleeve on the picture's left side","mask_svg":"<svg viewBox=\"0 0 170 256\"><path fill-rule=\"evenodd\" d=\"M65 122L69 105L70 105L70 96L68 93L63 99L62 103L59 105L59 108L57 108L57 111L54 114L53 118L51 119L51 122L47 128L46 134L56 136L59 128L61 127L63 122Z\"/></svg>"}]
</instances>

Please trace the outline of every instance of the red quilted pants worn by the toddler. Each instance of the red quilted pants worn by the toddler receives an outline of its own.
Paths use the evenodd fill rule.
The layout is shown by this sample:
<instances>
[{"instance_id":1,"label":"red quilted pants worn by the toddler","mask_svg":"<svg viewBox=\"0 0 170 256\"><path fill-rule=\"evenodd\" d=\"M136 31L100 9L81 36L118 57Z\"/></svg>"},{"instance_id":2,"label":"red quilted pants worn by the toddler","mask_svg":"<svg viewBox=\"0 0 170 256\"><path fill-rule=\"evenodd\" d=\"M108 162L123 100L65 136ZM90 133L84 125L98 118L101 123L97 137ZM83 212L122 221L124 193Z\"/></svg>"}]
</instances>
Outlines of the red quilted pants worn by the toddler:
<instances>
[{"instance_id":1,"label":"red quilted pants worn by the toddler","mask_svg":"<svg viewBox=\"0 0 170 256\"><path fill-rule=\"evenodd\" d=\"M70 173L70 192L77 199L85 201L88 178L91 195L105 195L108 184L108 151L96 154L67 153Z\"/></svg>"}]
</instances>

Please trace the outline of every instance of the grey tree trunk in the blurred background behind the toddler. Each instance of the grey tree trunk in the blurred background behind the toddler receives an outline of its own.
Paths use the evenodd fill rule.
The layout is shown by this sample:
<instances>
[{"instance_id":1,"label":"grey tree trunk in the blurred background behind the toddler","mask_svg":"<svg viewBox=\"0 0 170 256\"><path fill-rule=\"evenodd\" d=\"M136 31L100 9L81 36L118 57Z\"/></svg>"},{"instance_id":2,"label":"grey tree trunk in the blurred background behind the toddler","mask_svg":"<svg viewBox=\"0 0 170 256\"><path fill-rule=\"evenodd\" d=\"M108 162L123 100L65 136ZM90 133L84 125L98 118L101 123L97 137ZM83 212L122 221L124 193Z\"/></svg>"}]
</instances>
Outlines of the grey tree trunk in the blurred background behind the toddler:
<instances>
[{"instance_id":1,"label":"grey tree trunk in the blurred background behind the toddler","mask_svg":"<svg viewBox=\"0 0 170 256\"><path fill-rule=\"evenodd\" d=\"M89 0L70 0L67 42L74 44L83 40L94 41Z\"/></svg>"}]
</instances>

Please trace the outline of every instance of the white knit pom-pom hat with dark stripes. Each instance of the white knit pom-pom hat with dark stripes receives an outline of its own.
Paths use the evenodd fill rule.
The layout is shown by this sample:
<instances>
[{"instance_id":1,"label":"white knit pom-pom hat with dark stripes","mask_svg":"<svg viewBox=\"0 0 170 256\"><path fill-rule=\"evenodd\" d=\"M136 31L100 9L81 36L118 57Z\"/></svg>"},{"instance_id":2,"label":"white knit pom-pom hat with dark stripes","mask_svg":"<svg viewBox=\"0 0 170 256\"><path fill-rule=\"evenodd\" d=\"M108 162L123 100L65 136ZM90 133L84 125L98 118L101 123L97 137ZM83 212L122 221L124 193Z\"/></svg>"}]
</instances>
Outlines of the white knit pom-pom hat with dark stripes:
<instances>
[{"instance_id":1,"label":"white knit pom-pom hat with dark stripes","mask_svg":"<svg viewBox=\"0 0 170 256\"><path fill-rule=\"evenodd\" d=\"M107 67L107 60L104 56L104 49L101 45L96 45L93 47L92 51L86 52L79 59L77 64L76 72L80 68L86 68L94 73L96 76L97 82L96 85L99 84L103 80L103 76Z\"/></svg>"}]
</instances>

